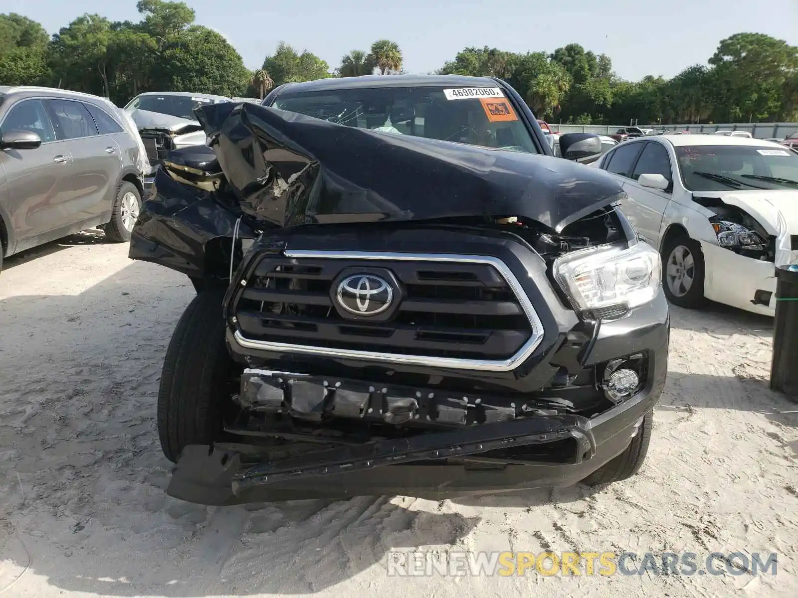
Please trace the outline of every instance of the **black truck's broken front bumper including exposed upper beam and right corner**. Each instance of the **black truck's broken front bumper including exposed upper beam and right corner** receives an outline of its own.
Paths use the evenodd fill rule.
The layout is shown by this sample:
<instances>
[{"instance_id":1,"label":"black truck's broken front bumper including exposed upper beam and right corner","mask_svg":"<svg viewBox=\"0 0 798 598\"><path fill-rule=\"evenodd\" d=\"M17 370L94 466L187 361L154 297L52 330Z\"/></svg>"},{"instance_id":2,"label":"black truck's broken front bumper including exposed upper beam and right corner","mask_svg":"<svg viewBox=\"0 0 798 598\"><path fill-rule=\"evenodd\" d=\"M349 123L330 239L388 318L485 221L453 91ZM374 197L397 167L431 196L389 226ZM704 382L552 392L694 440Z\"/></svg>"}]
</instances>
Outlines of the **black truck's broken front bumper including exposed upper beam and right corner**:
<instances>
[{"instance_id":1,"label":"black truck's broken front bumper including exposed upper beam and right corner","mask_svg":"<svg viewBox=\"0 0 798 598\"><path fill-rule=\"evenodd\" d=\"M631 335L646 348L650 370L645 388L590 417L533 412L489 394L456 400L391 385L358 387L344 378L248 369L241 383L244 404L281 408L311 421L330 412L341 419L393 419L402 427L423 427L425 433L369 443L333 440L333 447L310 445L301 454L281 454L279 443L191 445L178 460L167 493L201 504L234 505L382 494L440 499L572 486L621 454L654 409L666 380L669 331L662 293L628 317L602 325L587 363L622 355ZM274 431L267 435L280 437ZM285 440L288 447L296 438L288 432Z\"/></svg>"}]
</instances>

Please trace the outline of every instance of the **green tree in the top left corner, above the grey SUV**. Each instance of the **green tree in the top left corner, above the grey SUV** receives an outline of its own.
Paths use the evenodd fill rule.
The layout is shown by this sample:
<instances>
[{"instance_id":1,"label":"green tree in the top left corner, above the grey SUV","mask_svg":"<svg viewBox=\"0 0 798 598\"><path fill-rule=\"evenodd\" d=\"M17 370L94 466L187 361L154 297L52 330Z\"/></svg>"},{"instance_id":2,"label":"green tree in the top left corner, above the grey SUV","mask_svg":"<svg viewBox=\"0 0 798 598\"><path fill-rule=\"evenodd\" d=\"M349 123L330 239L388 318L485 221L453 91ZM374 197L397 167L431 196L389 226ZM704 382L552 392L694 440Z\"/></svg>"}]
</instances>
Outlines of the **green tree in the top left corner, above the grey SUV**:
<instances>
[{"instance_id":1,"label":"green tree in the top left corner, above the grey SUV","mask_svg":"<svg viewBox=\"0 0 798 598\"><path fill-rule=\"evenodd\" d=\"M38 22L0 14L0 84L37 85L49 74L49 36Z\"/></svg>"}]
</instances>

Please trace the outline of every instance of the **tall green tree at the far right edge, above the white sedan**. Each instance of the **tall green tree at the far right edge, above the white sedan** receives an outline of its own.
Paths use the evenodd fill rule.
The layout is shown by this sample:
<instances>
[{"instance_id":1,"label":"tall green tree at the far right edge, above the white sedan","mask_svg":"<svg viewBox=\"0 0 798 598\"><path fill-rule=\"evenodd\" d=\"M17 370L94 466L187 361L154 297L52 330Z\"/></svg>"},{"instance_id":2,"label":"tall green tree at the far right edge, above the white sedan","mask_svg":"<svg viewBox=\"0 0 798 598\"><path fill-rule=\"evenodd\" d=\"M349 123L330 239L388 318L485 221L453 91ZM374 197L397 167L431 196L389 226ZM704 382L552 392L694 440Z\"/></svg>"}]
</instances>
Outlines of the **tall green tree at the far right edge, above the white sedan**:
<instances>
[{"instance_id":1,"label":"tall green tree at the far right edge, above the white sedan","mask_svg":"<svg viewBox=\"0 0 798 598\"><path fill-rule=\"evenodd\" d=\"M764 33L736 33L721 41L709 64L720 100L717 120L764 119L781 112L784 85L798 70L798 48Z\"/></svg>"}]
</instances>

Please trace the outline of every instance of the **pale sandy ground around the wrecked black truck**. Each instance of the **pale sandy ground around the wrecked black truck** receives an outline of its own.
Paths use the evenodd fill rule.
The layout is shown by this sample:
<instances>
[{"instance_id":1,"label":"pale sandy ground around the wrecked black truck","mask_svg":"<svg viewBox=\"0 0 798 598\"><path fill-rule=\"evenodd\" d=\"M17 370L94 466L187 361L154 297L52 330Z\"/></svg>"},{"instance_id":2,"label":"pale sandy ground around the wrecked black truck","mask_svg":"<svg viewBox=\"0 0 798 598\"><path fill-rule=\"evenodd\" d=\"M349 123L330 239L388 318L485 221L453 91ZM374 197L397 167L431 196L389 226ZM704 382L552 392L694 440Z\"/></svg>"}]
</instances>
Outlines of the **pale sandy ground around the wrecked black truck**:
<instances>
[{"instance_id":1,"label":"pale sandy ground around the wrecked black truck","mask_svg":"<svg viewBox=\"0 0 798 598\"><path fill-rule=\"evenodd\" d=\"M673 310L633 480L429 502L205 508L164 494L154 414L187 280L77 235L0 276L0 596L798 596L798 411L772 321ZM777 575L387 576L392 549L779 553Z\"/></svg>"}]
</instances>

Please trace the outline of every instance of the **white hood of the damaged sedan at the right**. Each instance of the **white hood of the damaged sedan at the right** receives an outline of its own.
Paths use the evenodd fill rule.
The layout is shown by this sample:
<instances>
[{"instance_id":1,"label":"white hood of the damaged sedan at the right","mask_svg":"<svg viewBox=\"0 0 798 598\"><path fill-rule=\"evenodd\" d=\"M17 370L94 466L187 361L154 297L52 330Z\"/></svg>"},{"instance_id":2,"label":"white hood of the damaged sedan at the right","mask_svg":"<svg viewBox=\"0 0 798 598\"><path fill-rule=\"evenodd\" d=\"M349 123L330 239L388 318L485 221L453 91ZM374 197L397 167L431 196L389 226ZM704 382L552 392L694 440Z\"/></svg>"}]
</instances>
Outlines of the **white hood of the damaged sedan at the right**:
<instances>
[{"instance_id":1,"label":"white hood of the damaged sedan at the right","mask_svg":"<svg viewBox=\"0 0 798 598\"><path fill-rule=\"evenodd\" d=\"M792 234L798 234L798 191L695 191L693 197L713 197L739 207L751 214L769 234L780 233L781 216Z\"/></svg>"}]
</instances>

